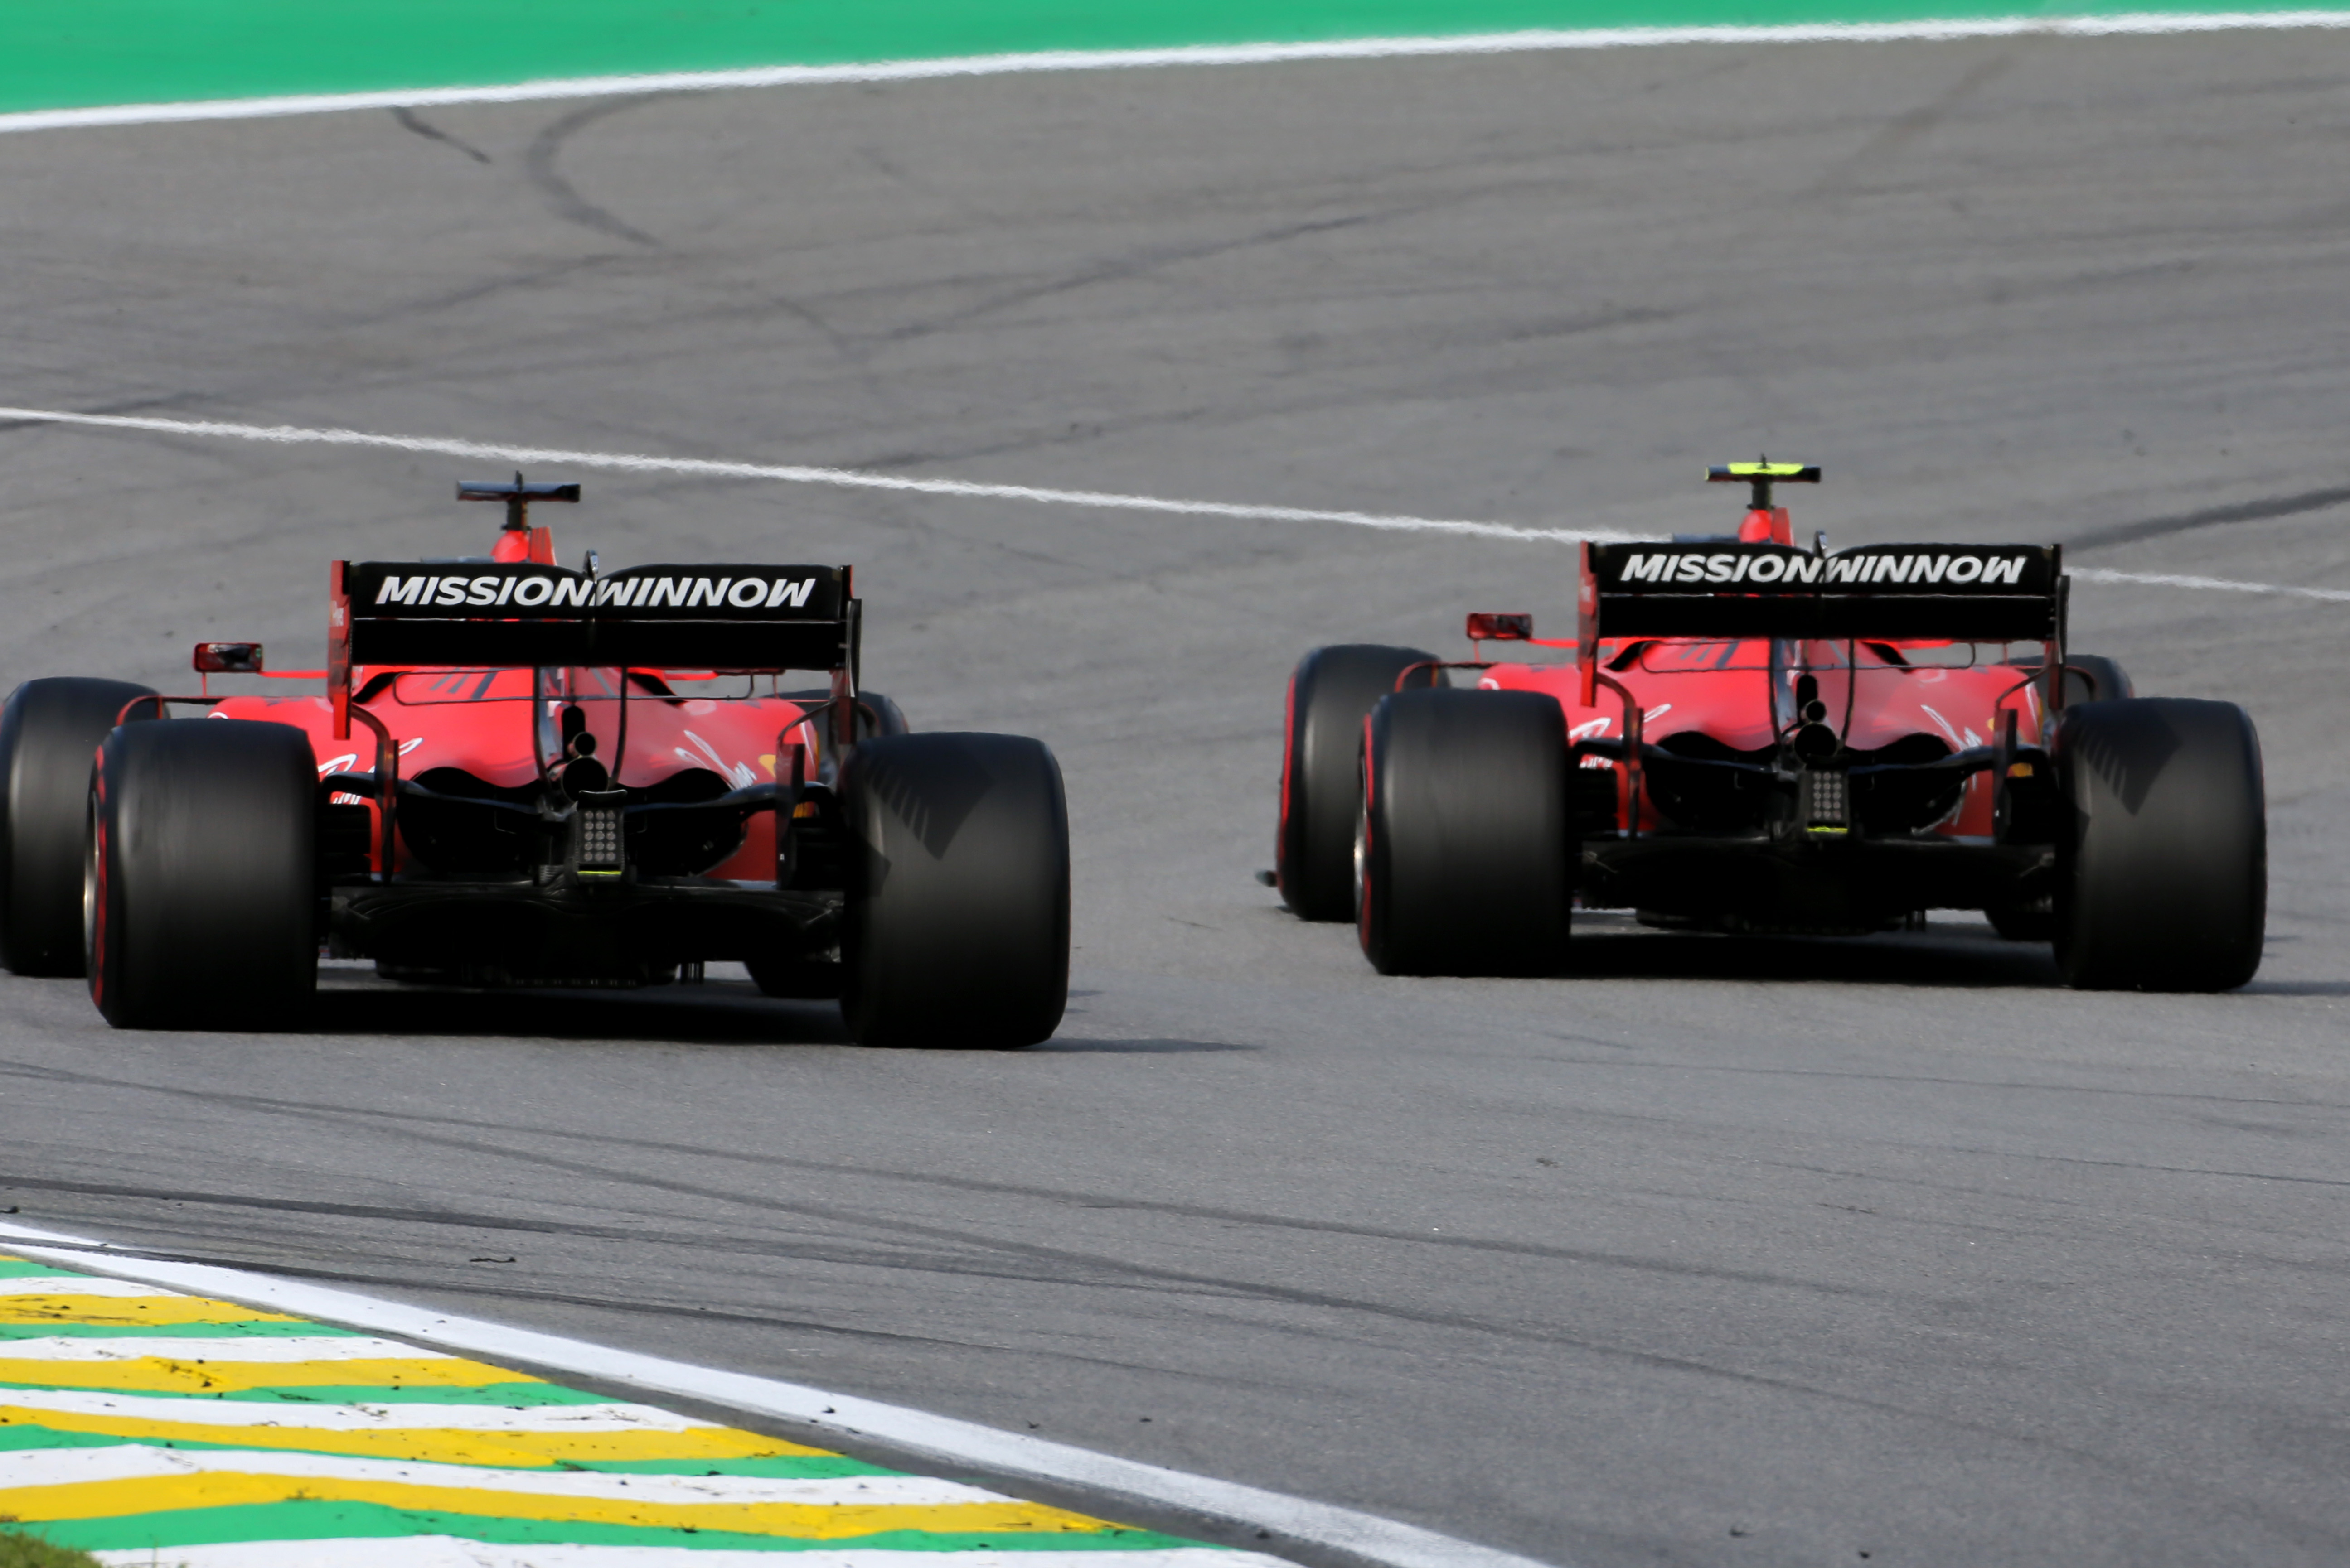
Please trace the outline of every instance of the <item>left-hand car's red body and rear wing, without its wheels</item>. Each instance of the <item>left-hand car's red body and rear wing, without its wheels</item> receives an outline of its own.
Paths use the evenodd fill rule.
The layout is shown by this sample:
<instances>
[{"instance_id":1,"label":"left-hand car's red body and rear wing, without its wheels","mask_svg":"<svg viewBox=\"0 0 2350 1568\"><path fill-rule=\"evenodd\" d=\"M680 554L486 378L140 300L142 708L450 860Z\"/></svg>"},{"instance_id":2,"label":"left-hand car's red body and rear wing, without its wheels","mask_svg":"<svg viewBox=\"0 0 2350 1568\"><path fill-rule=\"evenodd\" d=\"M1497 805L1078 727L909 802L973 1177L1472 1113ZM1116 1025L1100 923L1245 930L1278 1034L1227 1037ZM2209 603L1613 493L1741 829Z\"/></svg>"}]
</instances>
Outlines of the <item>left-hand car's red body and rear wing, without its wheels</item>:
<instances>
[{"instance_id":1,"label":"left-hand car's red body and rear wing, without its wheels","mask_svg":"<svg viewBox=\"0 0 2350 1568\"><path fill-rule=\"evenodd\" d=\"M207 683L322 676L322 692L139 699L310 742L327 951L465 984L632 986L738 960L776 995L837 995L832 784L862 730L902 730L855 690L853 568L604 573L588 552L566 570L526 509L576 484L465 481L458 500L505 505L496 552L336 561L324 671L195 648Z\"/></svg>"}]
</instances>

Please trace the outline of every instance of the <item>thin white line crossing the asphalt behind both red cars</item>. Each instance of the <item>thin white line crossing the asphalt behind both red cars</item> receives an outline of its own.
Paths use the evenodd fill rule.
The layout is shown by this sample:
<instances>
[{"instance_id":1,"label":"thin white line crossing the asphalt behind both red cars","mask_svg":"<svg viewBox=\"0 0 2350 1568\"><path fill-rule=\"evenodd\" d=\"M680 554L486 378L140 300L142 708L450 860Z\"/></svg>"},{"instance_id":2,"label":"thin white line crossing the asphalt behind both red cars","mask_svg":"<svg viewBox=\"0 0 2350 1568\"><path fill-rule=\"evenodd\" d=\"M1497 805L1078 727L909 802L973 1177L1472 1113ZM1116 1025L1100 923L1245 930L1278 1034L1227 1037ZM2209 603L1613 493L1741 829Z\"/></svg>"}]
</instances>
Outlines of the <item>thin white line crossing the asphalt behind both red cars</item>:
<instances>
[{"instance_id":1,"label":"thin white line crossing the asphalt behind both red cars","mask_svg":"<svg viewBox=\"0 0 2350 1568\"><path fill-rule=\"evenodd\" d=\"M719 462L714 458L651 458L644 453L585 453L562 446L498 446L454 437L397 437L369 430L308 425L228 425L221 420L160 420L134 413L68 413L61 408L0 408L0 423L94 425L99 430L143 430L174 437L214 437L223 441L273 441L280 446L385 446L484 462L559 462L651 474L710 474L719 479L776 479L783 484L825 484L851 491L912 491L916 495L968 495L980 500L1027 500L1050 507L1107 507L1116 512L1175 512L1180 516L1231 516L1262 523L1347 523L1389 533L1466 533L1488 540L1539 540L1553 545L1636 545L1654 533L1614 533L1605 528L1528 528L1520 523L1478 523L1443 516L1394 516L1384 512L1321 512L1314 507L1253 507L1224 500L1175 500L1166 495L1119 495L1109 491L1046 491L1027 484L975 484L971 479L909 479L902 474L865 474L844 467L799 467L778 462ZM2228 594L2280 594L2287 599L2322 599L2350 603L2350 589L2298 587L2287 582L2237 582L2235 577L2190 577L2178 573L2117 573L2103 566L2068 568L2082 582L2136 582L2148 587L2218 589Z\"/></svg>"}]
</instances>

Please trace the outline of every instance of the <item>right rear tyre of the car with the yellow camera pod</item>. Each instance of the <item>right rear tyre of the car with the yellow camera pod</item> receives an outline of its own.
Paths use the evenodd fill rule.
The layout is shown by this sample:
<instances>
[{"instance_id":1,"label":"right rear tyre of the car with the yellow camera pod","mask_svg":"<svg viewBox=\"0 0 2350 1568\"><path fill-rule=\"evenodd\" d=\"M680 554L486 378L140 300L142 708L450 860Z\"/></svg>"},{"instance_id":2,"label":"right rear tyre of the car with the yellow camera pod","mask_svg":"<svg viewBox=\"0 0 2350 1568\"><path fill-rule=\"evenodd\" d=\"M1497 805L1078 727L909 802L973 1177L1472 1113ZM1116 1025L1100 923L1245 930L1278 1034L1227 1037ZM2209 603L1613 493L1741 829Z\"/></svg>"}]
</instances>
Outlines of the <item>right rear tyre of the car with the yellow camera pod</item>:
<instances>
[{"instance_id":1,"label":"right rear tyre of the car with the yellow camera pod","mask_svg":"<svg viewBox=\"0 0 2350 1568\"><path fill-rule=\"evenodd\" d=\"M2261 739L2232 702L2138 697L2066 709L2070 807L2056 864L2056 965L2080 991L2232 991L2261 967L2268 805Z\"/></svg>"}]
</instances>

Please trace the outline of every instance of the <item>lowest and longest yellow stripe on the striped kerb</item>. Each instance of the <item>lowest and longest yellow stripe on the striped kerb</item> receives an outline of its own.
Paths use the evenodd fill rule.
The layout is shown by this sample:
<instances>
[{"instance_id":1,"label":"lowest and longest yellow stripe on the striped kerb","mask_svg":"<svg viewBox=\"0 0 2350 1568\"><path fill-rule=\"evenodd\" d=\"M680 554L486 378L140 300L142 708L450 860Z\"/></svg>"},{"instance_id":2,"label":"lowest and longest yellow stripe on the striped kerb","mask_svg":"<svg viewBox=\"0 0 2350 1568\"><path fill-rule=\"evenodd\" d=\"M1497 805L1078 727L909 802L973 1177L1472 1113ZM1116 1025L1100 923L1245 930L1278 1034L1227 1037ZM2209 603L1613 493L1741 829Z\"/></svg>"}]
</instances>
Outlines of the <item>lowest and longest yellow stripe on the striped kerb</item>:
<instances>
[{"instance_id":1,"label":"lowest and longest yellow stripe on the striped kerb","mask_svg":"<svg viewBox=\"0 0 2350 1568\"><path fill-rule=\"evenodd\" d=\"M376 1502L392 1509L435 1514L494 1514L559 1523L620 1523L670 1530L736 1530L794 1540L846 1540L884 1530L1013 1530L1093 1535L1104 1526L1081 1514L1034 1502L942 1502L935 1507L832 1507L808 1502L616 1502L604 1498L540 1498L533 1493L475 1491L458 1486L400 1486L390 1481L336 1481L324 1476L143 1476L139 1481L82 1481L73 1486L24 1486L7 1493L12 1514L26 1521L115 1519L174 1509L249 1507L261 1502Z\"/></svg>"}]
</instances>

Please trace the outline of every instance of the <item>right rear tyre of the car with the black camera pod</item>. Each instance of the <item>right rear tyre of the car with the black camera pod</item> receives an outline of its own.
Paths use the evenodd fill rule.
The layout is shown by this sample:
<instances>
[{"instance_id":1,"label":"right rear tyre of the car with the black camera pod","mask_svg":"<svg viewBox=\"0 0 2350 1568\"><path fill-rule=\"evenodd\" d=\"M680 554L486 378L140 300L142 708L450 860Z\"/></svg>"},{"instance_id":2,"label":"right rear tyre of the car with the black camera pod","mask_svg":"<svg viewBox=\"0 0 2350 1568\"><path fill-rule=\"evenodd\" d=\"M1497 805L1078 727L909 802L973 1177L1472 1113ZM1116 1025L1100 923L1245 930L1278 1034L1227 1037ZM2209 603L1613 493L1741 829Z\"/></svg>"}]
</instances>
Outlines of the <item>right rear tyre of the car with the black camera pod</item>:
<instances>
[{"instance_id":1,"label":"right rear tyre of the car with the black camera pod","mask_svg":"<svg viewBox=\"0 0 2350 1568\"><path fill-rule=\"evenodd\" d=\"M841 768L841 1014L860 1045L1020 1047L1069 1000L1069 807L1018 735L884 735Z\"/></svg>"}]
</instances>

